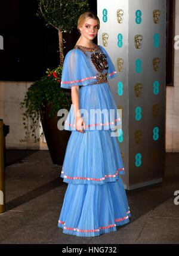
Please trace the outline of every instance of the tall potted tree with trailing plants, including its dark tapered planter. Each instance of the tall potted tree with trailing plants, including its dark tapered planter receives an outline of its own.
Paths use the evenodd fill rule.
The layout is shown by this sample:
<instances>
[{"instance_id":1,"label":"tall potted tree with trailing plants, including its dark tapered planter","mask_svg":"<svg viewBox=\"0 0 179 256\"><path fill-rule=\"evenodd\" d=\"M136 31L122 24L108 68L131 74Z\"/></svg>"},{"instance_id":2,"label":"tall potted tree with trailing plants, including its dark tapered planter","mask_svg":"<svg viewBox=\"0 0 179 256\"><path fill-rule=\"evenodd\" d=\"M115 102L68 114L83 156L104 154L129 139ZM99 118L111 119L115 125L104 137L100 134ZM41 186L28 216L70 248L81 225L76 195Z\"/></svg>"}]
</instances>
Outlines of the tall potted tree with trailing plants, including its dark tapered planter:
<instances>
[{"instance_id":1,"label":"tall potted tree with trailing plants, including its dark tapered planter","mask_svg":"<svg viewBox=\"0 0 179 256\"><path fill-rule=\"evenodd\" d=\"M53 26L58 30L60 64L56 69L47 69L41 79L30 85L20 107L26 108L23 113L25 140L32 135L36 143L44 134L53 164L62 165L70 131L57 128L61 118L57 112L69 110L72 104L70 90L60 87L64 61L63 33L71 33L76 28L79 16L87 11L89 4L87 0L38 0L38 5L36 15L44 18L47 27ZM40 122L43 132L37 135Z\"/></svg>"}]
</instances>

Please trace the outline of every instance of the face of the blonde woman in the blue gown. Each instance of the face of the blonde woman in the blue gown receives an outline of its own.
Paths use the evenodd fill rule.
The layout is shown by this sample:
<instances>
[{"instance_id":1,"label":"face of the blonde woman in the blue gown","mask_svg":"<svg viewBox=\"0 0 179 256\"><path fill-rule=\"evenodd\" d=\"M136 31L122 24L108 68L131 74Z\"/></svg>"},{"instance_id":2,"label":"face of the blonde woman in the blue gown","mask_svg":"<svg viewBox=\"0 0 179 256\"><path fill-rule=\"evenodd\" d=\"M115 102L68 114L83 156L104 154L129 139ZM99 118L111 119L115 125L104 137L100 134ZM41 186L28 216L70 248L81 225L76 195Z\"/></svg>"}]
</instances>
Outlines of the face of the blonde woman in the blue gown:
<instances>
[{"instance_id":1,"label":"face of the blonde woman in the blue gown","mask_svg":"<svg viewBox=\"0 0 179 256\"><path fill-rule=\"evenodd\" d=\"M94 39L95 36L98 33L99 24L97 20L94 20L93 18L89 18L82 27L79 27L81 30L81 36L83 36L86 39Z\"/></svg>"}]
</instances>

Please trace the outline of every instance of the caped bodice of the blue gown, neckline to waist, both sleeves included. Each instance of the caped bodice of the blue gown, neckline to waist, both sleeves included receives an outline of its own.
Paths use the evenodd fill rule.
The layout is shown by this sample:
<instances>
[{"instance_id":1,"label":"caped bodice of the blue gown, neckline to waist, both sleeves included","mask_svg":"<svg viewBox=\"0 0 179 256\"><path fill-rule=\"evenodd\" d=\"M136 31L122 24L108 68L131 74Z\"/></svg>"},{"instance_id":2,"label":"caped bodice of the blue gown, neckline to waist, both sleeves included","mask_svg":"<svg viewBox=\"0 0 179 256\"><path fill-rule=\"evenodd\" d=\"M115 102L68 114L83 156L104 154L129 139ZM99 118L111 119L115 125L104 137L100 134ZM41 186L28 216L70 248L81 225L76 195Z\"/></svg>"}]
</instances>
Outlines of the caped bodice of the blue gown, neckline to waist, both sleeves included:
<instances>
[{"instance_id":1,"label":"caped bodice of the blue gown, neckline to waist, both sleeves included","mask_svg":"<svg viewBox=\"0 0 179 256\"><path fill-rule=\"evenodd\" d=\"M64 58L61 87L106 83L116 76L115 67L101 45L88 48L75 45Z\"/></svg>"}]
</instances>

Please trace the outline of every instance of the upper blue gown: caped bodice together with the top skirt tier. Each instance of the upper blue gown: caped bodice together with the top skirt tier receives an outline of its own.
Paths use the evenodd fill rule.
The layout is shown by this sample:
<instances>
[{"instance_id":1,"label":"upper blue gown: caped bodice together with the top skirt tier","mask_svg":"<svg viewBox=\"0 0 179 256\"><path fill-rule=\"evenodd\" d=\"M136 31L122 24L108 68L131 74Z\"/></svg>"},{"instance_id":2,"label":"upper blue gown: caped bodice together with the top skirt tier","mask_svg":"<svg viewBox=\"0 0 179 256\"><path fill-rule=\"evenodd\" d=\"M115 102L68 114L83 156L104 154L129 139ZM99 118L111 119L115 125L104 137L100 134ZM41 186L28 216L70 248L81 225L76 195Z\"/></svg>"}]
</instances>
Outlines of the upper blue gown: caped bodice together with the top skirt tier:
<instances>
[{"instance_id":1,"label":"upper blue gown: caped bodice together with the top skirt tier","mask_svg":"<svg viewBox=\"0 0 179 256\"><path fill-rule=\"evenodd\" d=\"M108 79L115 76L115 66L101 45L94 45L92 48L75 45L66 54L61 87L81 87L79 109L87 130L113 129L121 122L112 92L107 85ZM65 129L69 131L76 131L74 110L72 104L64 123Z\"/></svg>"}]
</instances>

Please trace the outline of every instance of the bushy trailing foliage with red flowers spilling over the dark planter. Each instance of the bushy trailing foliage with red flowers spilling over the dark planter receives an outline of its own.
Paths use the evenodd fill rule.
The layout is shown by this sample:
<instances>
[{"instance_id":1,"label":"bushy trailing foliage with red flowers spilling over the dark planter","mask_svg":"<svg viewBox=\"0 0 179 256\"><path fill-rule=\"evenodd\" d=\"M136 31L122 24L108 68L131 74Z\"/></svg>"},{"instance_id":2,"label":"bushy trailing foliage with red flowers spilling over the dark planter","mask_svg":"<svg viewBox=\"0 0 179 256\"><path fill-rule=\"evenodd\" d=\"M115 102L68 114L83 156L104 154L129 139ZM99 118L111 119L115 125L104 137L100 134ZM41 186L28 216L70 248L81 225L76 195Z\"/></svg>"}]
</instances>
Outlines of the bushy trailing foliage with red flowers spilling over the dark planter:
<instances>
[{"instance_id":1,"label":"bushy trailing foliage with red flowers spilling over the dark planter","mask_svg":"<svg viewBox=\"0 0 179 256\"><path fill-rule=\"evenodd\" d=\"M25 138L29 138L31 134L35 143L44 134L42 132L39 138L36 136L36 129L41 127L39 121L43 124L45 103L47 106L51 105L49 117L57 115L60 109L69 110L72 104L72 99L66 93L66 89L60 87L62 67L59 66L53 70L47 69L46 73L47 75L30 85L24 95L24 100L20 103L20 108L25 108L23 113ZM60 118L57 117L57 119Z\"/></svg>"}]
</instances>

